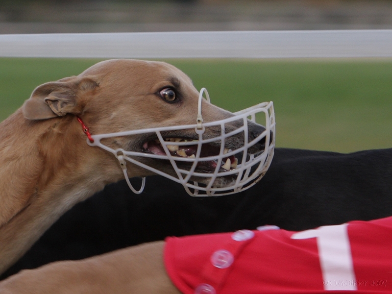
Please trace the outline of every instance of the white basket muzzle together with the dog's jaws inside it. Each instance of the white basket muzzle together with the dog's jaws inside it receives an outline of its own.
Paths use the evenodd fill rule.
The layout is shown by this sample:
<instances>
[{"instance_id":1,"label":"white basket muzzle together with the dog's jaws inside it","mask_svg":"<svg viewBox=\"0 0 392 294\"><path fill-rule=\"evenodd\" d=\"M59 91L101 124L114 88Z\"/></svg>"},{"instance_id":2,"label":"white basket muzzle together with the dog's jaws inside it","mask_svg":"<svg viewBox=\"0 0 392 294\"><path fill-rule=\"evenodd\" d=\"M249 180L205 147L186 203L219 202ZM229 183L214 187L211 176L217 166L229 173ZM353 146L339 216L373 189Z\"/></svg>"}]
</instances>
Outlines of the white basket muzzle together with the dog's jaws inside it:
<instances>
[{"instance_id":1,"label":"white basket muzzle together with the dog's jaws inside it","mask_svg":"<svg viewBox=\"0 0 392 294\"><path fill-rule=\"evenodd\" d=\"M253 186L270 166L275 146L273 103L260 103L229 118L203 123L200 100L203 92L208 98L203 88L195 124L93 135L94 142L87 143L101 147L121 160L125 179L134 193L139 194L142 189L136 191L130 184L124 160L181 183L192 196L241 192ZM256 114L264 115L265 126L255 123ZM220 131L212 134L208 132L209 129ZM180 133L190 134L189 139L176 137L175 134ZM156 139L143 144L143 150L112 149L100 142L103 138L141 134L148 134L149 138L151 134L156 135ZM121 154L121 158L118 154ZM162 165L165 165L164 168ZM169 169L168 165L172 168Z\"/></svg>"}]
</instances>

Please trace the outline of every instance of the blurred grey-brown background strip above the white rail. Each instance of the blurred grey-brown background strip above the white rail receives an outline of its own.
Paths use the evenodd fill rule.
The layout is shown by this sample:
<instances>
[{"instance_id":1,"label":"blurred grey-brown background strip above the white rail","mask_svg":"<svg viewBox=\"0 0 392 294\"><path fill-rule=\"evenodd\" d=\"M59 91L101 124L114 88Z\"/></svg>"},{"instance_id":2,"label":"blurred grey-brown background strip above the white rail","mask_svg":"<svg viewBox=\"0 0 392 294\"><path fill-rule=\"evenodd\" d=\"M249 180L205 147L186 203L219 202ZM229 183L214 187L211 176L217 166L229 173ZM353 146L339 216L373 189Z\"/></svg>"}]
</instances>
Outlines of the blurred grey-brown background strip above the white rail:
<instances>
[{"instance_id":1,"label":"blurred grey-brown background strip above the white rail","mask_svg":"<svg viewBox=\"0 0 392 294\"><path fill-rule=\"evenodd\" d=\"M0 34L391 28L391 0L0 0Z\"/></svg>"}]
</instances>

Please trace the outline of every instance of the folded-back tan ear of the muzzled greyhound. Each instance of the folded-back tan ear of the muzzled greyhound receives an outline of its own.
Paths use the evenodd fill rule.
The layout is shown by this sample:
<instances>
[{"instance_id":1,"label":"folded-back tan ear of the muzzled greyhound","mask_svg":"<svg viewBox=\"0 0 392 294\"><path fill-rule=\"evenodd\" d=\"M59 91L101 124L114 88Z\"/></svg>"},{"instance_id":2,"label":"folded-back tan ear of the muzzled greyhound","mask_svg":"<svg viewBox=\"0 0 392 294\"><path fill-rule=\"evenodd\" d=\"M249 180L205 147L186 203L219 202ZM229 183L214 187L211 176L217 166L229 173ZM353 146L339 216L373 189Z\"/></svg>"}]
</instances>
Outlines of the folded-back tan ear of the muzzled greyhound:
<instances>
[{"instance_id":1,"label":"folded-back tan ear of the muzzled greyhound","mask_svg":"<svg viewBox=\"0 0 392 294\"><path fill-rule=\"evenodd\" d=\"M83 94L98 87L98 83L87 77L67 77L57 82L38 86L22 106L28 120L46 120L68 113L81 114L84 107Z\"/></svg>"}]
</instances>

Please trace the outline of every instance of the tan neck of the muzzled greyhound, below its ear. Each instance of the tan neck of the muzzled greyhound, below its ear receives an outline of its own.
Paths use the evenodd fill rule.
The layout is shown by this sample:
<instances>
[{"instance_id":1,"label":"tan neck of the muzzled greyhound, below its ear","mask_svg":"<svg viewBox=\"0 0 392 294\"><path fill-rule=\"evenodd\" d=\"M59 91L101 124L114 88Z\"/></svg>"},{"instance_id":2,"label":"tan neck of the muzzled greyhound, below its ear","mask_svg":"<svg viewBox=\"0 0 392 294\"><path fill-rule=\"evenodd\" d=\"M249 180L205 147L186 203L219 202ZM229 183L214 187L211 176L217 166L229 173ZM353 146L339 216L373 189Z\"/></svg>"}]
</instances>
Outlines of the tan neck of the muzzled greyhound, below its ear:
<instances>
[{"instance_id":1,"label":"tan neck of the muzzled greyhound, below its ear","mask_svg":"<svg viewBox=\"0 0 392 294\"><path fill-rule=\"evenodd\" d=\"M1 273L65 211L121 172L98 172L105 170L102 156L89 155L101 151L86 144L74 116L34 122L19 110L0 130Z\"/></svg>"}]
</instances>

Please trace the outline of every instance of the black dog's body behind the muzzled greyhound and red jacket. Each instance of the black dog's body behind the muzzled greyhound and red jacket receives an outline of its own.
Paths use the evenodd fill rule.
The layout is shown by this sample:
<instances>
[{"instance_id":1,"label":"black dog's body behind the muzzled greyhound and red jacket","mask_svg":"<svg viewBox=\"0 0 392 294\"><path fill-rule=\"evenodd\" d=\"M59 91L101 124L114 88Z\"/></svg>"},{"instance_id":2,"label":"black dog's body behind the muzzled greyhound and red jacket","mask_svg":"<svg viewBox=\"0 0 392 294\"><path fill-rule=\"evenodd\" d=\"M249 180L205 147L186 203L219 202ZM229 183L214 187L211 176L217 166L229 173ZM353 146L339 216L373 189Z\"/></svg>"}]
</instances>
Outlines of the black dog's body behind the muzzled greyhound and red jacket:
<instances>
[{"instance_id":1,"label":"black dog's body behind the muzzled greyhound and red jacket","mask_svg":"<svg viewBox=\"0 0 392 294\"><path fill-rule=\"evenodd\" d=\"M392 215L392 149L350 154L277 148L269 171L243 193L191 197L162 177L134 195L109 185L56 222L1 278L55 260L80 259L166 236L255 229L304 230Z\"/></svg>"}]
</instances>

